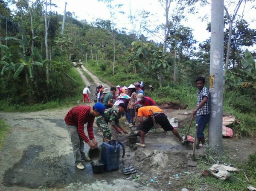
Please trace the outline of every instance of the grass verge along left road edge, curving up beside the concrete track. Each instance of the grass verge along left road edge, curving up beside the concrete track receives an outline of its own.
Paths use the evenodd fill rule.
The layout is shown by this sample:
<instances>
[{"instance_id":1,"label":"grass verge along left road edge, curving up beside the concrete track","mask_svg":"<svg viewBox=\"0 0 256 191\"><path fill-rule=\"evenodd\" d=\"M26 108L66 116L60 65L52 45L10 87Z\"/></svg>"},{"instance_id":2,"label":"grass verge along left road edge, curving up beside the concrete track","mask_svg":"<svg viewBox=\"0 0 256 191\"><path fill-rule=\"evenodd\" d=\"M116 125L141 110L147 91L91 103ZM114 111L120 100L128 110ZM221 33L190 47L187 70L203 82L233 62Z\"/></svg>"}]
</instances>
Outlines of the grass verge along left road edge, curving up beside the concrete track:
<instances>
[{"instance_id":1,"label":"grass verge along left road edge, curving up beside the concrete track","mask_svg":"<svg viewBox=\"0 0 256 191\"><path fill-rule=\"evenodd\" d=\"M6 100L0 101L0 110L1 111L8 111L8 112L32 112L32 111L40 111L44 109L56 109L56 108L67 108L67 107L73 107L75 105L78 105L77 100L82 100L82 90L84 88L84 82L76 70L76 68L72 67L70 71L68 72L68 75L70 75L74 80L73 86L75 86L73 95L67 96L64 99L58 99L49 101L47 103L36 103L36 104L9 104L6 103ZM70 79L71 80L71 79Z\"/></svg>"}]
</instances>

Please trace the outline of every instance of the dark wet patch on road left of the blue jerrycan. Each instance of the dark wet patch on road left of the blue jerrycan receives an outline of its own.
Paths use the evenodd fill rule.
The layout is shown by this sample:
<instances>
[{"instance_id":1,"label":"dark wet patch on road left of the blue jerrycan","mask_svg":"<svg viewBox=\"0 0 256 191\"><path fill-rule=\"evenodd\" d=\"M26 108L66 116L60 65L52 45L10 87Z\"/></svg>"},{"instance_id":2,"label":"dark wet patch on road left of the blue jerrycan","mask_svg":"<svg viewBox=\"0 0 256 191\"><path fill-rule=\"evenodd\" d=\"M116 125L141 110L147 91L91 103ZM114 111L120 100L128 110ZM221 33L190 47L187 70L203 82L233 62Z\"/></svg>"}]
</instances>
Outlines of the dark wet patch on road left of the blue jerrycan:
<instances>
[{"instance_id":1,"label":"dark wet patch on road left of the blue jerrycan","mask_svg":"<svg viewBox=\"0 0 256 191\"><path fill-rule=\"evenodd\" d=\"M92 183L108 174L93 174L90 162L83 163L84 170L73 165L73 153L59 158L40 158L44 148L32 145L23 153L23 157L12 168L5 171L3 184L7 187L20 186L26 188L64 188L70 183ZM113 172L114 173L114 172Z\"/></svg>"}]
</instances>

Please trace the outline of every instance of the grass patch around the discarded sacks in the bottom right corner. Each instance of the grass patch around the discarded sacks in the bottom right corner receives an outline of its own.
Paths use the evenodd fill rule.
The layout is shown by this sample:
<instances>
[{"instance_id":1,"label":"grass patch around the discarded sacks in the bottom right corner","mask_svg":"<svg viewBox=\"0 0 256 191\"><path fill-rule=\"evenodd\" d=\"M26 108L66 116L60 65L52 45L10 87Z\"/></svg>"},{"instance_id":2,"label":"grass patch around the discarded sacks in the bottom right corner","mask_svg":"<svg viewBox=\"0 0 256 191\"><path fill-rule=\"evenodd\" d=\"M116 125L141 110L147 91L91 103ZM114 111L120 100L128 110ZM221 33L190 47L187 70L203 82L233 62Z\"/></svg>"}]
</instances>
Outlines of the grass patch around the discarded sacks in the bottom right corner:
<instances>
[{"instance_id":1,"label":"grass patch around the discarded sacks in the bottom right corner","mask_svg":"<svg viewBox=\"0 0 256 191\"><path fill-rule=\"evenodd\" d=\"M202 172L208 170L211 166L208 164L214 164L214 160L224 161L227 164L232 164L227 154L222 154L221 156L216 156L212 153L208 153L205 159L198 160L198 171ZM249 160L246 164L239 163L235 165L239 171L230 172L230 178L228 180L219 180L216 177L202 177L201 173L191 174L186 177L185 187L193 190L207 190L212 191L242 191L247 190L248 185L256 185L256 153L249 156ZM247 182L244 173L248 177L249 182Z\"/></svg>"}]
</instances>

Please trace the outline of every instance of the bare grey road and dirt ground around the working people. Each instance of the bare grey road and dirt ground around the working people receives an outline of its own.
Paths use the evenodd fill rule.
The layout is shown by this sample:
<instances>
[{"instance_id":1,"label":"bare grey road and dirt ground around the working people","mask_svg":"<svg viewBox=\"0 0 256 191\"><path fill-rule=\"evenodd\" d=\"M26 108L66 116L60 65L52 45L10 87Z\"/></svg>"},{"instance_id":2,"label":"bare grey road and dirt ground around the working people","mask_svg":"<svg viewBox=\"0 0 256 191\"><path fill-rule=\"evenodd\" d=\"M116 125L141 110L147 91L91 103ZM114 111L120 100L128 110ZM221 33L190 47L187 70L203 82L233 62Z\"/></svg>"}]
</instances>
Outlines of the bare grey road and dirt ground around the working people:
<instances>
[{"instance_id":1,"label":"bare grey road and dirt ground around the working people","mask_svg":"<svg viewBox=\"0 0 256 191\"><path fill-rule=\"evenodd\" d=\"M81 171L74 166L70 139L64 128L64 116L69 110L0 112L0 118L11 127L0 151L0 191L180 191L188 175L201 174L197 167L187 166L192 148L181 145L172 132L163 132L161 128L146 135L146 148L130 145L125 135L121 137L126 154L120 168L134 166L137 174L132 180L136 181L127 180L129 175L120 170L93 174L90 162L84 162L85 169ZM181 125L188 123L190 117L184 112L191 111L165 110L168 117L178 117ZM122 117L121 123L128 129L124 122ZM101 143L96 126L94 132ZM224 139L224 149L237 162L246 161L255 152L255 145L255 139ZM87 152L88 147L84 150ZM203 155L204 150L197 154ZM177 174L179 181L173 179ZM198 188L214 190L199 185Z\"/></svg>"}]
</instances>

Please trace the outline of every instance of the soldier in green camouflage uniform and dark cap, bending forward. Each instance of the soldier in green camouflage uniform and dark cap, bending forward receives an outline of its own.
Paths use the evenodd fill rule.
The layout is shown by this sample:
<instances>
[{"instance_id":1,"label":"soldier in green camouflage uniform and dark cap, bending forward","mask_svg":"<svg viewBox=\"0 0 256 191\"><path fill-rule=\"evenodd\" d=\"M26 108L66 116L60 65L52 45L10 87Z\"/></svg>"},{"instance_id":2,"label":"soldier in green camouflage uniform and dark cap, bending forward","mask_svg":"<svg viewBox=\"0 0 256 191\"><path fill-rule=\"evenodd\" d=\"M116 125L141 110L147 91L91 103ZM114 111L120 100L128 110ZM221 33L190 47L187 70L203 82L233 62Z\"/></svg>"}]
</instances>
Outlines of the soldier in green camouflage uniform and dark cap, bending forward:
<instances>
[{"instance_id":1,"label":"soldier in green camouflage uniform and dark cap, bending forward","mask_svg":"<svg viewBox=\"0 0 256 191\"><path fill-rule=\"evenodd\" d=\"M103 133L106 140L118 140L117 136L122 132L128 134L128 132L125 131L119 123L119 119L125 110L125 103L120 103L117 106L106 109L104 117L100 116L95 118L95 123L98 125L99 130Z\"/></svg>"}]
</instances>

